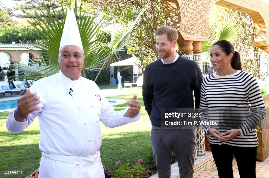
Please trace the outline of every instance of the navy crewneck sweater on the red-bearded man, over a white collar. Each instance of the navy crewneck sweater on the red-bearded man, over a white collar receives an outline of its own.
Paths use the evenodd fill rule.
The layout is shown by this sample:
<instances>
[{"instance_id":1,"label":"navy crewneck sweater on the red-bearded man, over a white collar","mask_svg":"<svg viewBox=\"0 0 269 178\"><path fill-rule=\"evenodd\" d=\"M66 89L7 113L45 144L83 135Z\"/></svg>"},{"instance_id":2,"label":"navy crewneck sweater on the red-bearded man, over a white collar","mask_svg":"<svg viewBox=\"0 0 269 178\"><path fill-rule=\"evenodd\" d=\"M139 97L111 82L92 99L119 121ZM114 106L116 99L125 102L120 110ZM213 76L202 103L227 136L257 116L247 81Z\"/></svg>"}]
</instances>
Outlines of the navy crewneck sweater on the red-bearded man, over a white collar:
<instances>
[{"instance_id":1,"label":"navy crewneck sweater on the red-bearded man, over a white collar","mask_svg":"<svg viewBox=\"0 0 269 178\"><path fill-rule=\"evenodd\" d=\"M203 80L197 62L179 56L171 64L160 59L147 65L143 79L143 100L152 125L161 126L161 108L195 108L200 105Z\"/></svg>"}]
</instances>

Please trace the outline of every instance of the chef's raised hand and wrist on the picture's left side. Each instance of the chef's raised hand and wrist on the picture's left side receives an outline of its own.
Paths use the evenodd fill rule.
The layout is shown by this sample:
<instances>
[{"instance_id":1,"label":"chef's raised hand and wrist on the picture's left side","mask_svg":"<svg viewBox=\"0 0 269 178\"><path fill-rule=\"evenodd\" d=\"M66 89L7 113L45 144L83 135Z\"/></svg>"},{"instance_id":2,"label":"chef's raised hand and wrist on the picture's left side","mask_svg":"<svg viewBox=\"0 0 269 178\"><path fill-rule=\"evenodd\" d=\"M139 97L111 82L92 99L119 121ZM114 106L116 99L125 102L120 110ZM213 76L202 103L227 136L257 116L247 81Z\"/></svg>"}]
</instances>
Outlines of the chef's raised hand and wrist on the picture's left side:
<instances>
[{"instance_id":1,"label":"chef's raised hand and wrist on the picture's left side","mask_svg":"<svg viewBox=\"0 0 269 178\"><path fill-rule=\"evenodd\" d=\"M17 101L18 109L14 112L15 120L24 122L31 112L38 109L34 105L40 103L39 99L40 97L36 93L31 93L30 89L26 89L24 96Z\"/></svg>"}]
</instances>

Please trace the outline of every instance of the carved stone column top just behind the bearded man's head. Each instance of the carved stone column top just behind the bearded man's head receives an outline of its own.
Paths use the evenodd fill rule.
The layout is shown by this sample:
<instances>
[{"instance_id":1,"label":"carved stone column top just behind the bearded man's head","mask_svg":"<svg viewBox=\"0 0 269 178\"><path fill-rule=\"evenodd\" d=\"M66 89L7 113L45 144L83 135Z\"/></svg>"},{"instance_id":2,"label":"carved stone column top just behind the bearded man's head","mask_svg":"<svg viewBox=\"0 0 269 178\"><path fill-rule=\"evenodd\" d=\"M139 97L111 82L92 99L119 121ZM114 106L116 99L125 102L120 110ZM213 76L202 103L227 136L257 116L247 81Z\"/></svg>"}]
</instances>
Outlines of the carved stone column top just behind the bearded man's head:
<instances>
[{"instance_id":1,"label":"carved stone column top just behind the bearded man's head","mask_svg":"<svg viewBox=\"0 0 269 178\"><path fill-rule=\"evenodd\" d=\"M180 56L193 60L192 42L188 40L178 40L178 53Z\"/></svg>"}]
</instances>

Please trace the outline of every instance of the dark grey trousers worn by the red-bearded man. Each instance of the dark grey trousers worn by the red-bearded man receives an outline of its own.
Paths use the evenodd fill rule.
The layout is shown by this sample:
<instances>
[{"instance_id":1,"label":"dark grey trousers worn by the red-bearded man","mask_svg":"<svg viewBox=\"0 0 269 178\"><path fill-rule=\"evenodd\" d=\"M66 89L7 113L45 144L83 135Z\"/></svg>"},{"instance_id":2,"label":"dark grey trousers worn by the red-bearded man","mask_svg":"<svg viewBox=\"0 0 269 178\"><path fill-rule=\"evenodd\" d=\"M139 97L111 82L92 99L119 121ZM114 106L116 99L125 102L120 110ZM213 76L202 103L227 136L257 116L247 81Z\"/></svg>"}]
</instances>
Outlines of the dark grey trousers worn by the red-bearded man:
<instances>
[{"instance_id":1,"label":"dark grey trousers worn by the red-bearded man","mask_svg":"<svg viewBox=\"0 0 269 178\"><path fill-rule=\"evenodd\" d=\"M173 150L178 160L180 178L193 177L196 147L194 129L161 129L152 125L150 142L159 178L170 178Z\"/></svg>"}]
</instances>

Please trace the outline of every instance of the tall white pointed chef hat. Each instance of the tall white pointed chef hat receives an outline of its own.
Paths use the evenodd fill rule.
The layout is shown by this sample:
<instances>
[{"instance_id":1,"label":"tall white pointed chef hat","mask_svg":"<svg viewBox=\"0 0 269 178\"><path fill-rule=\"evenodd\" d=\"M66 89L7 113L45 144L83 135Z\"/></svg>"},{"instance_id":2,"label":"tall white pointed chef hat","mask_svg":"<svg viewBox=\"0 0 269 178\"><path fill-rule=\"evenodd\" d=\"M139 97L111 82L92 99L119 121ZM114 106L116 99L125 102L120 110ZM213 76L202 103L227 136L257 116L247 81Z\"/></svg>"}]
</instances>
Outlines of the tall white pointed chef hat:
<instances>
[{"instance_id":1,"label":"tall white pointed chef hat","mask_svg":"<svg viewBox=\"0 0 269 178\"><path fill-rule=\"evenodd\" d=\"M83 50L82 41L79 34L79 28L77 26L77 21L73 9L68 9L59 49L67 45L75 45Z\"/></svg>"}]
</instances>

